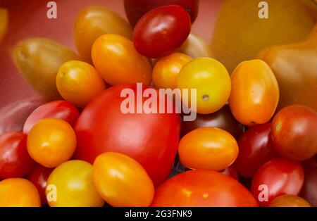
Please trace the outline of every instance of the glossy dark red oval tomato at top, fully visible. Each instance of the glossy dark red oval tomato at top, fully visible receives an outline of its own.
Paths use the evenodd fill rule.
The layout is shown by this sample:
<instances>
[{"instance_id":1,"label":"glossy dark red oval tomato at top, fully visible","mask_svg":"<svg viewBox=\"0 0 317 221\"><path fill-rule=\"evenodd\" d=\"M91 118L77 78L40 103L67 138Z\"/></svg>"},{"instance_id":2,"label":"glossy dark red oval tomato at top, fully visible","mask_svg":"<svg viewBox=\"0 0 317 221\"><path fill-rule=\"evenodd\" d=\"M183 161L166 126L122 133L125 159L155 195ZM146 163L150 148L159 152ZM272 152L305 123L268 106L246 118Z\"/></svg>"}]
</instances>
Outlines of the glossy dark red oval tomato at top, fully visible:
<instances>
[{"instance_id":1,"label":"glossy dark red oval tomato at top, fully visible","mask_svg":"<svg viewBox=\"0 0 317 221\"><path fill-rule=\"evenodd\" d=\"M180 6L161 6L144 14L133 31L135 49L148 58L173 53L190 33L190 17Z\"/></svg>"}]
</instances>

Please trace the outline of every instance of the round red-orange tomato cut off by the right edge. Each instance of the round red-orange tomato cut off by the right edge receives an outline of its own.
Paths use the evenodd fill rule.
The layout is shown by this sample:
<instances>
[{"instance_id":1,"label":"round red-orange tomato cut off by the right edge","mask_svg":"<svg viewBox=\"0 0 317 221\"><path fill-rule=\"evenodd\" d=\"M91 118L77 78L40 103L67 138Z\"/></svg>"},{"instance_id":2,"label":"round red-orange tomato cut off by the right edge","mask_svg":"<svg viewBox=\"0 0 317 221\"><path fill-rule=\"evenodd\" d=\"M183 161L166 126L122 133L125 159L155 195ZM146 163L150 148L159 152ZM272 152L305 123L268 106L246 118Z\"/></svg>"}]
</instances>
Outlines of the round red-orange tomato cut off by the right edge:
<instances>
[{"instance_id":1,"label":"round red-orange tomato cut off by the right edge","mask_svg":"<svg viewBox=\"0 0 317 221\"><path fill-rule=\"evenodd\" d=\"M317 113L306 106L282 108L273 118L275 150L293 160L307 160L317 153Z\"/></svg>"}]
</instances>

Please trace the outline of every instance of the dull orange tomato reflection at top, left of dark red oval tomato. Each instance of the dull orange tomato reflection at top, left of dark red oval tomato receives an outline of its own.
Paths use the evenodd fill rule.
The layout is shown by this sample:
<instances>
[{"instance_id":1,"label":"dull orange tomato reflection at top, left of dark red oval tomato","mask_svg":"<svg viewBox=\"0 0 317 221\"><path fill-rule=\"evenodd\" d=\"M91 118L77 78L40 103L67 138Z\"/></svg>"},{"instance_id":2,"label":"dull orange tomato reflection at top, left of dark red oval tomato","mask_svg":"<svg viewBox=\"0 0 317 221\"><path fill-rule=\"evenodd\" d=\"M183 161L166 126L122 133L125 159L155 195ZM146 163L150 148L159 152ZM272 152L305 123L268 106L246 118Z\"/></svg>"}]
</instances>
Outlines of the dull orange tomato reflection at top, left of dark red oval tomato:
<instances>
[{"instance_id":1,"label":"dull orange tomato reflection at top, left of dark red oval tomato","mask_svg":"<svg viewBox=\"0 0 317 221\"><path fill-rule=\"evenodd\" d=\"M80 56L92 63L92 44L102 34L120 34L132 39L132 27L117 13L101 6L89 6L78 14L74 40Z\"/></svg>"}]
</instances>

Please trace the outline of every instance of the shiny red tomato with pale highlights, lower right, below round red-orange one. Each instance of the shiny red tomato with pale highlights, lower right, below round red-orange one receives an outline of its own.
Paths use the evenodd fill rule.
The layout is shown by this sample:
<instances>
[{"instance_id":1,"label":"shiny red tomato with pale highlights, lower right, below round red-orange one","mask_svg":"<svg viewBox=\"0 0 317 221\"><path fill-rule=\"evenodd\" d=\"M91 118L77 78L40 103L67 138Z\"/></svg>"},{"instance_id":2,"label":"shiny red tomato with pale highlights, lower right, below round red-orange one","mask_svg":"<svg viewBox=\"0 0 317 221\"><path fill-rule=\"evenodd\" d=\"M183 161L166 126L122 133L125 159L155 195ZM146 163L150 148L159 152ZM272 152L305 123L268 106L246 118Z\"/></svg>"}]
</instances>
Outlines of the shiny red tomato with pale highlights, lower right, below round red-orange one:
<instances>
[{"instance_id":1,"label":"shiny red tomato with pale highlights, lower right, below round red-orange one","mask_svg":"<svg viewBox=\"0 0 317 221\"><path fill-rule=\"evenodd\" d=\"M251 193L262 206L268 206L280 195L297 195L304 183L304 170L295 160L275 158L256 171Z\"/></svg>"}]
</instances>

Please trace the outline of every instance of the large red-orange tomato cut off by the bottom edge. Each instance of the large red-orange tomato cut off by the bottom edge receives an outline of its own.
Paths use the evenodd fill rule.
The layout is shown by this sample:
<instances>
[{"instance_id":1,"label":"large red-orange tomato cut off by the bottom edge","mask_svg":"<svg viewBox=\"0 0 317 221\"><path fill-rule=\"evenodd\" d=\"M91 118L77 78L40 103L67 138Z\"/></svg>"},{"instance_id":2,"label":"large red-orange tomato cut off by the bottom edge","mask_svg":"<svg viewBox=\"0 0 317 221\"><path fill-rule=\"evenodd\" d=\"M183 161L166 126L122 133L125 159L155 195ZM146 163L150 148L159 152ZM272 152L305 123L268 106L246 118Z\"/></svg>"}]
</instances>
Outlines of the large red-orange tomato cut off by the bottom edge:
<instances>
[{"instance_id":1,"label":"large red-orange tomato cut off by the bottom edge","mask_svg":"<svg viewBox=\"0 0 317 221\"><path fill-rule=\"evenodd\" d=\"M211 170L189 170L168 179L155 191L151 206L258 206L237 180Z\"/></svg>"}]
</instances>

